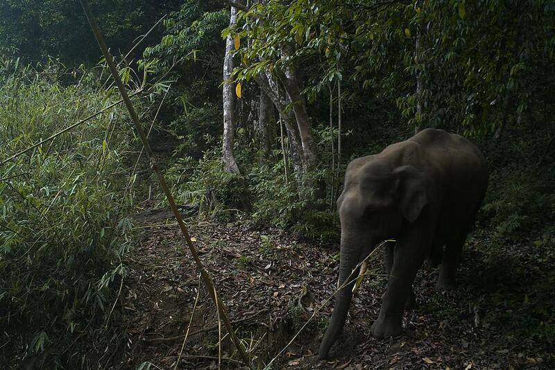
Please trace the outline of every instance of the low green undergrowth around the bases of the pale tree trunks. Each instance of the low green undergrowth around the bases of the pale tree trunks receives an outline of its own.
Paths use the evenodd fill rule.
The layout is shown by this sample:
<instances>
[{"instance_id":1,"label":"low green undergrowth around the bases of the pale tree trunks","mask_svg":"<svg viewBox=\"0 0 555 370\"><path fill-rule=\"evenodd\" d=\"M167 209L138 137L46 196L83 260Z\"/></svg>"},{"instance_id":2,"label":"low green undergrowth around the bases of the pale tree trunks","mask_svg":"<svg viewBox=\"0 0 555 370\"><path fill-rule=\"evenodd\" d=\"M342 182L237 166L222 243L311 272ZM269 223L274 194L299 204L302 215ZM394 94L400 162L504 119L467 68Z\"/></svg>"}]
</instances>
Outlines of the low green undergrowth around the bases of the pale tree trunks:
<instances>
[{"instance_id":1,"label":"low green undergrowth around the bases of the pale tree trunks","mask_svg":"<svg viewBox=\"0 0 555 370\"><path fill-rule=\"evenodd\" d=\"M294 176L291 174L286 179L283 160L275 159L280 158L280 151L274 154L274 160L261 161L257 158L259 153L243 150L237 160L240 165L246 164L245 178L222 170L219 149L205 152L199 162L191 157L177 158L166 174L178 202L199 205L203 217L219 221L234 219L244 210L241 196L248 187L253 202L249 217L256 226L291 230L309 239L336 237L334 213L300 200Z\"/></svg>"}]
</instances>

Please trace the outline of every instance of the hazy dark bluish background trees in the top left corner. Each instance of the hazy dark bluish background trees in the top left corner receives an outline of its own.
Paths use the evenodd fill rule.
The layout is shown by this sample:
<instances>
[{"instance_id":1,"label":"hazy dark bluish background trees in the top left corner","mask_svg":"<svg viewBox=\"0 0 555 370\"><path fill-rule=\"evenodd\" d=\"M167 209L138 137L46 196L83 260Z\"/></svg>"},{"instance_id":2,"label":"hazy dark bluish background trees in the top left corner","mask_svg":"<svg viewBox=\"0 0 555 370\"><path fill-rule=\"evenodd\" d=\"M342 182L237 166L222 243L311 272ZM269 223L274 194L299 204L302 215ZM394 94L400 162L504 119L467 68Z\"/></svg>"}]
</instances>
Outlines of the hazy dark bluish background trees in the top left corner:
<instances>
[{"instance_id":1,"label":"hazy dark bluish background trees in the top left corner","mask_svg":"<svg viewBox=\"0 0 555 370\"><path fill-rule=\"evenodd\" d=\"M180 2L89 1L112 51L130 49L137 36ZM0 35L0 47L15 47L27 62L56 56L74 65L93 64L101 56L78 1L3 0Z\"/></svg>"}]
</instances>

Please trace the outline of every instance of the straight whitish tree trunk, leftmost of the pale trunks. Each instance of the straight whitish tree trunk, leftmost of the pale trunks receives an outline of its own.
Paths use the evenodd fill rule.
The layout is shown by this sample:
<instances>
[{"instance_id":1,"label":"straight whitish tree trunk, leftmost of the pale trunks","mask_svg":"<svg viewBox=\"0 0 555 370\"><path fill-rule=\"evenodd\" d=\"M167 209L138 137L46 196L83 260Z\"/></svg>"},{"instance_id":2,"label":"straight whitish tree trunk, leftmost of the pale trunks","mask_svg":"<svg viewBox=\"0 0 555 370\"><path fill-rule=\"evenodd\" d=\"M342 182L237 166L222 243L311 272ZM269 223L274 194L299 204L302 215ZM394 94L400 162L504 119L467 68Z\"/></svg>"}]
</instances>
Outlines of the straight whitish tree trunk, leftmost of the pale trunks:
<instances>
[{"instance_id":1,"label":"straight whitish tree trunk, leftmost of the pale trunks","mask_svg":"<svg viewBox=\"0 0 555 370\"><path fill-rule=\"evenodd\" d=\"M237 8L230 10L230 26L237 22ZM234 68L234 60L231 52L234 49L233 37L228 35L225 40L225 57L223 58L223 170L239 174L239 167L233 156L233 143L235 136L235 92L234 83L231 81L231 73Z\"/></svg>"}]
</instances>

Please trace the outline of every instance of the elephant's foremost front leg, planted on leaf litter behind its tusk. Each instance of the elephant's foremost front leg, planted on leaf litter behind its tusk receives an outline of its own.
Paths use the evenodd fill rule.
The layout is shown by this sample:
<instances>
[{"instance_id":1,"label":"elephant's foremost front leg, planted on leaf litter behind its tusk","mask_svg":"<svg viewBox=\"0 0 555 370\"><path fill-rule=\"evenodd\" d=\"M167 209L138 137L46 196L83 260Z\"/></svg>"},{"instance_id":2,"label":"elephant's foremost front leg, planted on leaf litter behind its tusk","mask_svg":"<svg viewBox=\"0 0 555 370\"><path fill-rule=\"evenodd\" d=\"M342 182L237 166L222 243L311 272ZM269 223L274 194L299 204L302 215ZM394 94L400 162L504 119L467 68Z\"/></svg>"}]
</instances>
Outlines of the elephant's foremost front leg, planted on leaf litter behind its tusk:
<instances>
[{"instance_id":1,"label":"elephant's foremost front leg, planted on leaf litter behind its tusk","mask_svg":"<svg viewBox=\"0 0 555 370\"><path fill-rule=\"evenodd\" d=\"M405 235L395 245L393 264L379 316L370 332L377 338L396 337L402 334L404 305L411 298L412 283L429 250L425 235Z\"/></svg>"}]
</instances>

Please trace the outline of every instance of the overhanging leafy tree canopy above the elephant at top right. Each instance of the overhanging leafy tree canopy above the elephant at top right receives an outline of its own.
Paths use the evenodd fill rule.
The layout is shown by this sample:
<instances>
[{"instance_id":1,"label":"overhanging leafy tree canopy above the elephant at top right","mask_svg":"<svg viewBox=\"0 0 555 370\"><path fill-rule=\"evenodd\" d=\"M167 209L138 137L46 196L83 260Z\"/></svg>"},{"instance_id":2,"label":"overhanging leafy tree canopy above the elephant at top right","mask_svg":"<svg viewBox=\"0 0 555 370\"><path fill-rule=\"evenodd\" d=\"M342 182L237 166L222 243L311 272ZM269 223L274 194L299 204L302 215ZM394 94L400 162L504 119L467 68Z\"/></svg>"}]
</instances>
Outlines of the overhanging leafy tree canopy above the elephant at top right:
<instances>
[{"instance_id":1,"label":"overhanging leafy tree canopy above the elephant at top right","mask_svg":"<svg viewBox=\"0 0 555 370\"><path fill-rule=\"evenodd\" d=\"M554 73L551 1L271 0L238 18L224 35L252 41L239 50L237 78L309 65L312 99L351 81L352 92L395 102L411 126L493 132L505 112L526 112L536 81Z\"/></svg>"}]
</instances>

